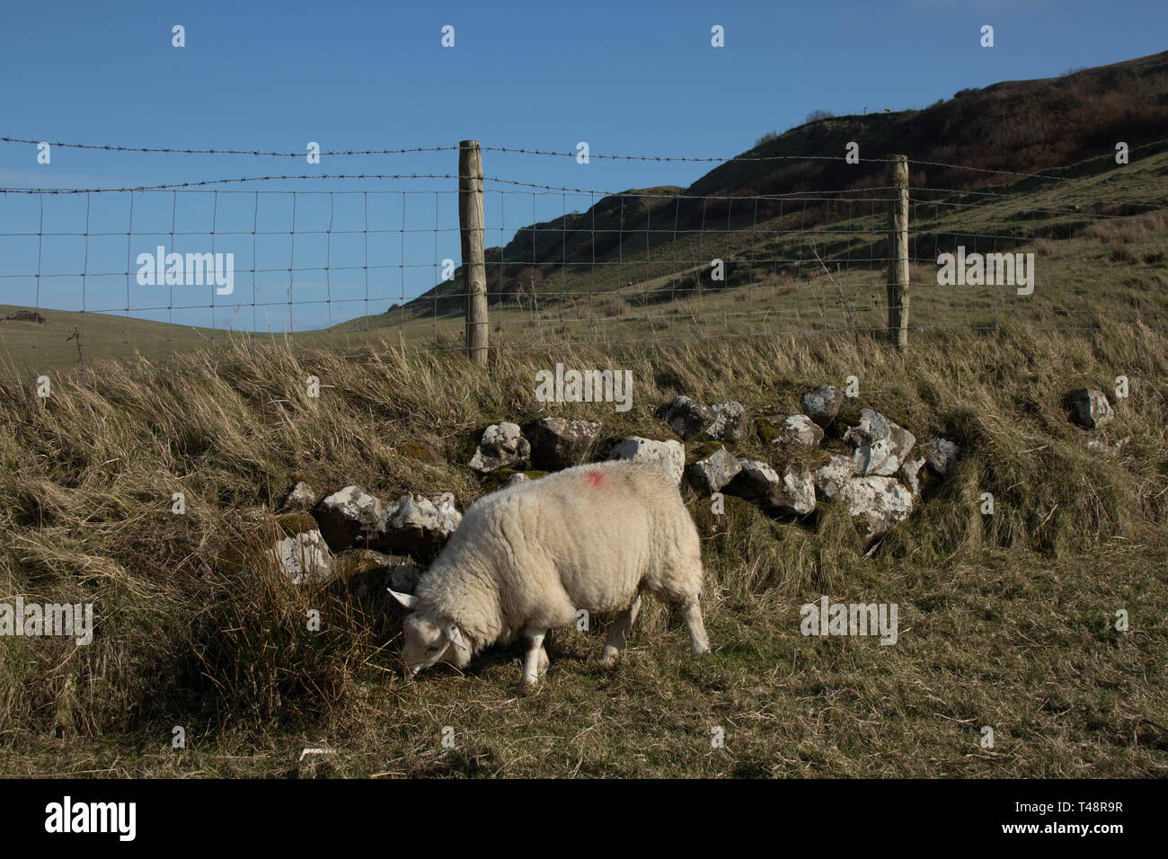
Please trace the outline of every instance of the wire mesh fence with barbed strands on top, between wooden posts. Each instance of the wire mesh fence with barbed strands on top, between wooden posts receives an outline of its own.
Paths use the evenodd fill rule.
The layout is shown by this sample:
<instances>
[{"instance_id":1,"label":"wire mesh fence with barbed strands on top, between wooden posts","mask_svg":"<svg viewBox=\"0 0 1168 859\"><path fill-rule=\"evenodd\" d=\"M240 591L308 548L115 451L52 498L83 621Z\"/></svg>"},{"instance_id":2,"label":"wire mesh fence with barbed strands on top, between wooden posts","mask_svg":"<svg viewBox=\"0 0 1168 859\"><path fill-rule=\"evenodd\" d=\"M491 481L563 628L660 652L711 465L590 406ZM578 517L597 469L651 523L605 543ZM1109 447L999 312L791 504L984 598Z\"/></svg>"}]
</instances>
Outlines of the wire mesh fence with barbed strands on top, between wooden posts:
<instances>
[{"instance_id":1,"label":"wire mesh fence with barbed strands on top, between wooden posts","mask_svg":"<svg viewBox=\"0 0 1168 859\"><path fill-rule=\"evenodd\" d=\"M591 158L724 167L690 192L614 193L485 176L491 348L840 332L883 339L894 262L889 207L899 193L888 185L884 159L849 164L846 185L784 190L792 175L800 180L792 183L807 186L815 175L808 168L839 176L833 171L843 159ZM1157 158L1133 165L1122 181L1113 173L1073 178L910 160L912 342L992 330L1011 318L1058 330L1091 330L1111 318L1162 331L1168 157ZM715 181L728 168L756 172ZM953 171L978 183L929 182ZM294 180L376 187L263 187ZM385 344L406 352L463 349L458 180L457 172L317 173L2 188L0 375L257 360L273 340L346 355ZM383 186L391 181L406 187Z\"/></svg>"}]
</instances>

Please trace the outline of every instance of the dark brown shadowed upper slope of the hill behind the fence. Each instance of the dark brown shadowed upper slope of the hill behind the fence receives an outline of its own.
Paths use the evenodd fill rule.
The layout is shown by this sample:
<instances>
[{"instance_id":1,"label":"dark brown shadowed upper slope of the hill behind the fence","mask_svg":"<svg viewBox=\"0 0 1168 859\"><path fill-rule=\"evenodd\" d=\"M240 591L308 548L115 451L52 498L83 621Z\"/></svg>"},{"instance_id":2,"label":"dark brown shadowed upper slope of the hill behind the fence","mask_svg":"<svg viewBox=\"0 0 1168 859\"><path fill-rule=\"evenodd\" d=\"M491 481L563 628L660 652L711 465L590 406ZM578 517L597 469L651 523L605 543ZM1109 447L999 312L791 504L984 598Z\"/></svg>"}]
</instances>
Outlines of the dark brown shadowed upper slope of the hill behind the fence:
<instances>
[{"instance_id":1,"label":"dark brown shadowed upper slope of the hill behind the fence","mask_svg":"<svg viewBox=\"0 0 1168 859\"><path fill-rule=\"evenodd\" d=\"M844 146L851 140L860 144L862 159L875 160L846 164ZM1104 155L1113 153L1120 140L1131 147L1133 159L1166 148L1168 51L1062 77L961 90L924 110L800 125L738 157L779 160L730 160L683 190L673 186L627 190L604 198L582 214L524 227L506 247L487 249L487 291L492 302L524 290L540 292L552 277L559 283L558 271L565 263L576 272L623 258L628 241L645 249L670 241L677 230L711 223L726 229L765 221L781 210L777 201L736 206L736 198L878 187L883 182L880 161L891 153L918 162L910 175L913 187L969 189L1016 183L1017 176L1010 173L1085 175L1111 169L1114 160ZM805 155L823 160L798 158ZM940 166L946 164L978 169ZM586 289L579 280L573 277L572 288ZM452 282L403 309L336 327L397 325L436 311L456 314L463 307L461 289L458 269ZM555 300L556 290L544 289L549 300Z\"/></svg>"}]
</instances>

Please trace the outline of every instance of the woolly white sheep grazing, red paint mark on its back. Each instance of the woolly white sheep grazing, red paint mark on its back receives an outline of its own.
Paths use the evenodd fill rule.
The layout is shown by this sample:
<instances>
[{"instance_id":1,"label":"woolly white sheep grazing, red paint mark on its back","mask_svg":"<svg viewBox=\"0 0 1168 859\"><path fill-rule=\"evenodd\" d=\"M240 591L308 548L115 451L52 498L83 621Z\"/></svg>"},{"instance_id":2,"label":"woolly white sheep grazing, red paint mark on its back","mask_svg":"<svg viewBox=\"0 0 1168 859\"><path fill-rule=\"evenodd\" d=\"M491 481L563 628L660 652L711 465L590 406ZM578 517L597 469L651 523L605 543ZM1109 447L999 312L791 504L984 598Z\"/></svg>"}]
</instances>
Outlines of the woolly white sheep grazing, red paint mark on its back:
<instances>
[{"instance_id":1,"label":"woolly white sheep grazing, red paint mark on its back","mask_svg":"<svg viewBox=\"0 0 1168 859\"><path fill-rule=\"evenodd\" d=\"M677 607L694 654L709 651L698 597L697 528L676 484L647 463L578 465L485 496L466 511L403 625L406 679L439 661L465 669L495 643L527 644L521 692L548 669L548 630L580 609L618 612L603 661L617 661L640 610L640 590Z\"/></svg>"}]
</instances>

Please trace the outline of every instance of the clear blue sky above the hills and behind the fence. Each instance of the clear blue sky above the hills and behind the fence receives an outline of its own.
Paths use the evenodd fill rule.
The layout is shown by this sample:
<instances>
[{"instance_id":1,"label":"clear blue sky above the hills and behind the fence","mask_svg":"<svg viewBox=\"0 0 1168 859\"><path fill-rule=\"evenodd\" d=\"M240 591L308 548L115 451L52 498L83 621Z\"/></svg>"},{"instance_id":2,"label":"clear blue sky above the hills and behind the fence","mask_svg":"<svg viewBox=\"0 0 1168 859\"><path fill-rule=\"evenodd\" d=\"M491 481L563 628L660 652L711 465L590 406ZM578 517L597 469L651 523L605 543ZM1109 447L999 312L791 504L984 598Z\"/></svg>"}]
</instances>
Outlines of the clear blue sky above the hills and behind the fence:
<instances>
[{"instance_id":1,"label":"clear blue sky above the hills and behind the fence","mask_svg":"<svg viewBox=\"0 0 1168 859\"><path fill-rule=\"evenodd\" d=\"M1168 4L65 1L51 11L9 4L0 21L0 136L285 152L303 152L310 140L327 151L452 146L464 138L566 152L585 140L593 154L729 158L763 132L798 125L816 109L843 115L918 108L967 86L1156 53L1166 47ZM979 46L987 23L995 29L992 49ZM174 25L186 28L185 48L172 47ZM454 27L453 48L440 44L446 25ZM724 48L710 44L715 25L724 28ZM485 153L487 175L597 190L684 186L711 166L599 159L578 165ZM303 158L58 147L50 165L37 165L35 147L0 144L2 187L453 172L454 152L326 158L311 166ZM296 247L285 236L264 236L255 262L251 224L287 230L290 195L138 194L132 222L127 194L0 195L0 275L22 275L0 277L0 304L35 304L35 279L26 276L39 266L41 306L79 310L84 270L86 310L125 312L128 303L132 314L147 318L231 327L252 327L258 319L260 328L280 330L290 324L287 273L260 272L257 291L250 269L292 265L299 330L381 312L431 286L440 259L458 259L451 181L242 187L411 193L404 214L401 193L298 196ZM221 187L228 188L241 186ZM535 217L545 220L593 200L500 190L488 185L488 244L529 223L533 203ZM239 273L230 296L127 285L127 269L137 272L127 258L159 243L171 249L172 219L176 233L190 234L176 236L175 250L211 250L213 217L214 249L236 254ZM331 241L313 233L324 233L329 219L336 233ZM366 229L373 231L368 241ZM91 235L86 248L84 235L39 241L41 231ZM19 233L34 235L13 235ZM374 266L368 284L367 252ZM324 265L326 254L327 280L312 270ZM255 302L277 300L284 306L252 314Z\"/></svg>"}]
</instances>

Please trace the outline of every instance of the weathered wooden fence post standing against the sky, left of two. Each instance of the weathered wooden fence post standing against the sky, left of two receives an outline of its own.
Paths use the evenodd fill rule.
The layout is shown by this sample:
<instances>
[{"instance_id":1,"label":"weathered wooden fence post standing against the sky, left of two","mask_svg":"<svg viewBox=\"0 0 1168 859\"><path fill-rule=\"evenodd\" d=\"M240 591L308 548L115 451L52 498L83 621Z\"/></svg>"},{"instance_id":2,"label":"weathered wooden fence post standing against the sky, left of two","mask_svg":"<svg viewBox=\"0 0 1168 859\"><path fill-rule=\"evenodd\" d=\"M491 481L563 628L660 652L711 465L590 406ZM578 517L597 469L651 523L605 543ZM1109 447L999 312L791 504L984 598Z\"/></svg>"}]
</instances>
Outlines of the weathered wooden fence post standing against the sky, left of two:
<instances>
[{"instance_id":1,"label":"weathered wooden fence post standing against the sky, left of two","mask_svg":"<svg viewBox=\"0 0 1168 859\"><path fill-rule=\"evenodd\" d=\"M482 152L478 140L458 145L458 221L463 236L466 354L487 366L487 265L482 250Z\"/></svg>"}]
</instances>

